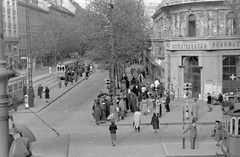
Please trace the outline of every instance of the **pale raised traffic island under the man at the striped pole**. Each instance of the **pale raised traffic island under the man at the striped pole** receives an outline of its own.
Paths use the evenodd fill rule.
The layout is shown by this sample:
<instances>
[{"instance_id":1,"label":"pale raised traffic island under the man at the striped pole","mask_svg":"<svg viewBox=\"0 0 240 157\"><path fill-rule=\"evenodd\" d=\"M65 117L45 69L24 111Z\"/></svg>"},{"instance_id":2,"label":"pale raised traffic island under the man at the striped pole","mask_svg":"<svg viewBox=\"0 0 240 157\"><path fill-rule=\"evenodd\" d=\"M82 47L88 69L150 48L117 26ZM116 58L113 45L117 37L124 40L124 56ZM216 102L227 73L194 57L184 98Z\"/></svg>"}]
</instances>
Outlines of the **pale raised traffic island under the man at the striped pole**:
<instances>
[{"instance_id":1,"label":"pale raised traffic island under the man at the striped pole","mask_svg":"<svg viewBox=\"0 0 240 157\"><path fill-rule=\"evenodd\" d=\"M197 142L195 149L190 149L190 143L185 143L185 149L183 149L183 143L162 143L163 150L166 157L215 157L219 151L219 147L215 142Z\"/></svg>"}]
</instances>

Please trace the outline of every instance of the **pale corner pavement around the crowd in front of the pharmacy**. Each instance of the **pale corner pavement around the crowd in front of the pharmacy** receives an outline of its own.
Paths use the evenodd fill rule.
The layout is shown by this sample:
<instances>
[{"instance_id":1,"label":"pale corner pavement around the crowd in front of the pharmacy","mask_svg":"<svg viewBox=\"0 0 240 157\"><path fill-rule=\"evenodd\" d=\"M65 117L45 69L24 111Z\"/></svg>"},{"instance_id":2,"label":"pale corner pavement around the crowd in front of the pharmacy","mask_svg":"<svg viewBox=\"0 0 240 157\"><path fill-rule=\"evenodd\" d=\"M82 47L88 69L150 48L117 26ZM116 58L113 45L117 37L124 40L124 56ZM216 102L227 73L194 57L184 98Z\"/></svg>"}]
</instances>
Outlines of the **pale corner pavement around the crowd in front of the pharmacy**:
<instances>
[{"instance_id":1,"label":"pale corner pavement around the crowd in front of the pharmacy","mask_svg":"<svg viewBox=\"0 0 240 157\"><path fill-rule=\"evenodd\" d=\"M131 68L135 69L143 69L142 65L132 65L126 69L126 74L128 75L128 79L131 80ZM150 83L150 79L144 79L143 83ZM121 95L120 89L117 89L117 94ZM191 105L194 103L194 99L189 99L188 100L188 106L189 110L191 109ZM198 101L198 104L200 105L200 110L198 112L198 124L203 124L203 125L213 125L215 124L215 120L221 120L222 118L222 111L220 109L220 106L213 106L213 110L211 112L207 112L207 103L204 101ZM162 106L162 118L159 119L160 125L177 125L177 124L183 124L183 107L186 106L186 100L184 98L181 99L174 99L171 100L170 103L170 110L171 112L165 112L166 110L164 109L164 106ZM147 116L142 116L142 124L143 125L150 125L151 118L153 115L153 112L155 109L153 109L153 105L150 102L150 113L147 114ZM190 112L189 112L190 113ZM192 117L189 118L189 120L186 120L186 124L191 123ZM117 125L130 125L133 123L133 113L128 112L127 117L124 118L124 120L121 120L119 122L116 122ZM108 125L102 124L102 125Z\"/></svg>"}]
</instances>

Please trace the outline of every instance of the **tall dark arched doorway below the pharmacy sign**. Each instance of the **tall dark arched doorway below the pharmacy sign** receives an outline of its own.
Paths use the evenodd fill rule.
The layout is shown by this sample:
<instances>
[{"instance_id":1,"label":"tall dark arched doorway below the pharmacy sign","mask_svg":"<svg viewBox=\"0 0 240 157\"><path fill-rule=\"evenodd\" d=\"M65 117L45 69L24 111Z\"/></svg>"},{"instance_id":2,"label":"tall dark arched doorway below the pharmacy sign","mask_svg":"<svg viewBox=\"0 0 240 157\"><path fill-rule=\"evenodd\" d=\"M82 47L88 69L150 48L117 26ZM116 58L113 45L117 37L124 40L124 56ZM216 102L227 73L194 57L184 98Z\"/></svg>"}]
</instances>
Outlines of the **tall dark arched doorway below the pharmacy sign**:
<instances>
[{"instance_id":1,"label":"tall dark arched doorway below the pharmacy sign","mask_svg":"<svg viewBox=\"0 0 240 157\"><path fill-rule=\"evenodd\" d=\"M197 56L182 57L184 67L184 83L189 83L189 97L198 97L201 93L201 67Z\"/></svg>"}]
</instances>

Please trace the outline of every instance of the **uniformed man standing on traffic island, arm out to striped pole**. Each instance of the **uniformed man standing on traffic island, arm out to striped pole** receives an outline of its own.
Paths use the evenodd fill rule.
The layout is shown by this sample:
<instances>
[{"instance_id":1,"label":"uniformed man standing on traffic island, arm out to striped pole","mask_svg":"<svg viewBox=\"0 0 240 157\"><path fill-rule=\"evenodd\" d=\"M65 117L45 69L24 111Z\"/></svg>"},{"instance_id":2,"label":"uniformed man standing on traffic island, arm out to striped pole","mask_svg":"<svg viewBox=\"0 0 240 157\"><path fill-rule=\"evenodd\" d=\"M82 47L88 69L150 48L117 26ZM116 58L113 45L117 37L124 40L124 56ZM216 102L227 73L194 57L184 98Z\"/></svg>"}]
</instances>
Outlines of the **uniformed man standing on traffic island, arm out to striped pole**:
<instances>
[{"instance_id":1,"label":"uniformed man standing on traffic island, arm out to striped pole","mask_svg":"<svg viewBox=\"0 0 240 157\"><path fill-rule=\"evenodd\" d=\"M195 149L195 143L196 143L196 138L197 138L197 126L196 122L192 120L192 124L188 126L188 128L183 132L183 135L190 131L189 137L190 137L190 148Z\"/></svg>"}]
</instances>

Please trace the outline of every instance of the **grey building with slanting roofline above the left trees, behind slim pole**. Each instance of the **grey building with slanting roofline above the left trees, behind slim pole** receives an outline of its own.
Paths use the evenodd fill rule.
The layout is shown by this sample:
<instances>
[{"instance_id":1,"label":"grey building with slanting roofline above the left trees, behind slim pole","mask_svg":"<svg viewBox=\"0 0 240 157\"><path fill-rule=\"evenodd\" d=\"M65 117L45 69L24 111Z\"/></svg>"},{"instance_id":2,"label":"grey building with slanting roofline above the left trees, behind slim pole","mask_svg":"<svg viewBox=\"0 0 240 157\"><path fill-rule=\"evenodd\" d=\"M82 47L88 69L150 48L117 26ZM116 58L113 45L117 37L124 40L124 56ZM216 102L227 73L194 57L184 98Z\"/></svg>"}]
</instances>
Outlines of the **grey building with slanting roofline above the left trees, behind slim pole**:
<instances>
[{"instance_id":1,"label":"grey building with slanting roofline above the left trees, behind slim pole","mask_svg":"<svg viewBox=\"0 0 240 157\"><path fill-rule=\"evenodd\" d=\"M48 17L54 18L59 16L62 18L72 18L75 16L75 11L70 10L53 4L45 0L31 0L29 4L29 22L30 22L30 34L31 34L31 51L38 51L34 45L37 45L37 35L39 34L39 26L42 24L44 19ZM19 32L19 44L17 45L19 49L19 63L22 64L23 68L26 68L26 59L21 59L21 57L26 57L29 53L28 43L27 43L27 23L26 23L26 1L17 0L17 20L18 20L18 32ZM45 56L50 60L48 56ZM48 61L51 62L51 61ZM33 62L33 69L35 69L35 61Z\"/></svg>"}]
</instances>

